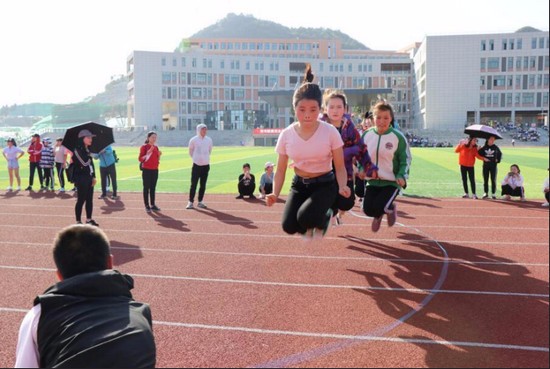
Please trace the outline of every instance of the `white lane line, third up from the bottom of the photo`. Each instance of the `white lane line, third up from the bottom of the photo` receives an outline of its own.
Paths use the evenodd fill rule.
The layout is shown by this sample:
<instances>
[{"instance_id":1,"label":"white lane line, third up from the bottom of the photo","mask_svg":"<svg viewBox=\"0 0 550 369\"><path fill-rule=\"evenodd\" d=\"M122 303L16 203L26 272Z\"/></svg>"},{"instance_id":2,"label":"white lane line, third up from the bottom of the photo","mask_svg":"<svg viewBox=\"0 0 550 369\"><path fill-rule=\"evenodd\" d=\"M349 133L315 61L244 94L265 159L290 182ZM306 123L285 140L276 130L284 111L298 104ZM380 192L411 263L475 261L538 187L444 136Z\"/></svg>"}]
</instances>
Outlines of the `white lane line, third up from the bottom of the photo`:
<instances>
[{"instance_id":1,"label":"white lane line, third up from the bottom of the photo","mask_svg":"<svg viewBox=\"0 0 550 369\"><path fill-rule=\"evenodd\" d=\"M116 242L116 241L115 241ZM43 248L51 248L49 243L29 243L29 242L12 242L12 241L0 241L0 245L13 246L35 246ZM440 264L445 260L438 259L398 259L398 258L369 258L369 257L351 257L351 256L311 256L311 255L298 255L298 254L262 254L252 252L227 252L227 251L210 251L210 250L181 250L170 248L146 248L146 247L120 247L111 246L112 250L125 250L131 252L152 252L152 253L175 253L175 254L198 254L198 255L220 255L220 256L234 256L234 257L259 257L259 258L280 258L280 259L309 259L309 260L325 260L325 261L358 261L367 262L375 261L381 263L426 263L426 264ZM116 260L115 260L116 261ZM449 259L449 264L461 264L461 265L507 265L507 266L528 266L528 267L542 267L548 268L550 264L541 263L519 263L519 262L499 262L499 261L468 261L460 259Z\"/></svg>"}]
</instances>

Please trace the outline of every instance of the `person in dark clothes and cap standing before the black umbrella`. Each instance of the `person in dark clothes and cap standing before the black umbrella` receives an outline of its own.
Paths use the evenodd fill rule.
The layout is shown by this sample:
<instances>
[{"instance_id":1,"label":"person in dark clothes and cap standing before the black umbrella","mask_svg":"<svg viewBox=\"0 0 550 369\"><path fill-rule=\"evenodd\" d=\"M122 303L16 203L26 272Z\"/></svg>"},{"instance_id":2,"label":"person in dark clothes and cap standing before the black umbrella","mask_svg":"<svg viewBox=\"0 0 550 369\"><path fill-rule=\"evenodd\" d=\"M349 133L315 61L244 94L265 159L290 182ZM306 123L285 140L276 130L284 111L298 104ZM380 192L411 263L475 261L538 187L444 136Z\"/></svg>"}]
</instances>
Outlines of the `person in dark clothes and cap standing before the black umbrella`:
<instances>
[{"instance_id":1,"label":"person in dark clothes and cap standing before the black umbrella","mask_svg":"<svg viewBox=\"0 0 550 369\"><path fill-rule=\"evenodd\" d=\"M87 129L78 133L78 143L73 151L73 182L77 189L78 199L75 206L75 215L77 224L82 224L82 208L86 205L86 224L99 227L99 224L92 218L94 209L94 186L97 183L94 160L90 153L90 146L93 138Z\"/></svg>"}]
</instances>

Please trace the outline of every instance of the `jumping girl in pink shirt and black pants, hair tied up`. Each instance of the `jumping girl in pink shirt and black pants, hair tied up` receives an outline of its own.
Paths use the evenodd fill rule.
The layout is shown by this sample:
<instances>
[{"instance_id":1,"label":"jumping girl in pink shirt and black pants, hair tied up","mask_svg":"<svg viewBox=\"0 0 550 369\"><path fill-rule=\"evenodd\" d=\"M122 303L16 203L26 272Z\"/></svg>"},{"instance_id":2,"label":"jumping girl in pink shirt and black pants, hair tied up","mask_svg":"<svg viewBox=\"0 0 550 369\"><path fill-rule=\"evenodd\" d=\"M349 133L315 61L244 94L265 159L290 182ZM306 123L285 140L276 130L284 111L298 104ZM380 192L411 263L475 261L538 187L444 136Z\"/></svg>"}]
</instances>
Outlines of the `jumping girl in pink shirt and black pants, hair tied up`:
<instances>
[{"instance_id":1,"label":"jumping girl in pink shirt and black pants, hair tied up","mask_svg":"<svg viewBox=\"0 0 550 369\"><path fill-rule=\"evenodd\" d=\"M286 233L300 233L308 239L325 235L336 196L351 195L344 167L344 143L336 128L317 119L323 94L318 85L311 83L313 77L308 65L305 81L293 98L297 122L281 132L277 141L279 170L273 193L267 196L267 205L272 206L281 193L289 159L293 160L295 176L282 225Z\"/></svg>"}]
</instances>

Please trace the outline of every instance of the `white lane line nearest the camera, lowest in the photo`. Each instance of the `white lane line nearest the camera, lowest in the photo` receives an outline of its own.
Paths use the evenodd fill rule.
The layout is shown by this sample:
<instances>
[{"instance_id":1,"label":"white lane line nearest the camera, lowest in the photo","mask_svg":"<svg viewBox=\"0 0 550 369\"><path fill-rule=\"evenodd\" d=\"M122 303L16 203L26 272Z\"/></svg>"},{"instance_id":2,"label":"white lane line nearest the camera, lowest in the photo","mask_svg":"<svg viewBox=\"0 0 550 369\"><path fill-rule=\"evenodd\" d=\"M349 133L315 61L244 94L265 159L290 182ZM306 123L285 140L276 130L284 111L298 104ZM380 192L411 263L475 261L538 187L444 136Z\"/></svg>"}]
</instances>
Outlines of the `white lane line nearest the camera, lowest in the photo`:
<instances>
[{"instance_id":1,"label":"white lane line nearest the camera, lowest in the photo","mask_svg":"<svg viewBox=\"0 0 550 369\"><path fill-rule=\"evenodd\" d=\"M26 314L28 311L29 309L14 309L14 308L0 307L0 312L2 313ZM336 340L350 340L350 341L377 341L377 342L392 342L392 343L407 343L407 344L418 343L418 344L425 344L425 345L442 345L442 346L455 346L455 347L477 347L477 348L492 348L492 349L504 349L504 350L549 352L548 347L538 347L538 346L508 345L508 344L468 342L468 341L407 339L407 338L393 338L393 337L380 337L380 336L378 337L377 336L354 336L354 335L337 334L337 333L282 331L282 330L273 330L273 329L230 327L230 326L223 326L223 325L166 322L161 320L154 320L153 325L164 326L164 327L186 328L186 329L206 329L206 330L213 330L213 331L252 333L252 334L261 334L261 335L292 336L292 337L336 339Z\"/></svg>"}]
</instances>

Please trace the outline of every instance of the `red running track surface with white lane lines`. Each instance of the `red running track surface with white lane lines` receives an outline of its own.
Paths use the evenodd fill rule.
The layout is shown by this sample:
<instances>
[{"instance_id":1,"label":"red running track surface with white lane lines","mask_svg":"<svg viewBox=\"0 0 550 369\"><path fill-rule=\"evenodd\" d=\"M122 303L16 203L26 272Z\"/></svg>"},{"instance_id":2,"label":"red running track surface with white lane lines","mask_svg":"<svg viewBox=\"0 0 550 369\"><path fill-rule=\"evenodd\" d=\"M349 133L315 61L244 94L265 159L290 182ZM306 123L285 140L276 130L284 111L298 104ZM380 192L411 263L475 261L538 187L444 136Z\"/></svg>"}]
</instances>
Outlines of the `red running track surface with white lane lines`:
<instances>
[{"instance_id":1,"label":"red running track surface with white lane lines","mask_svg":"<svg viewBox=\"0 0 550 369\"><path fill-rule=\"evenodd\" d=\"M74 200L0 196L0 367L55 282L50 247ZM95 200L116 268L151 304L159 367L548 367L549 223L539 203L398 200L323 241L284 234L283 204L208 195ZM32 214L32 215L30 215Z\"/></svg>"}]
</instances>

